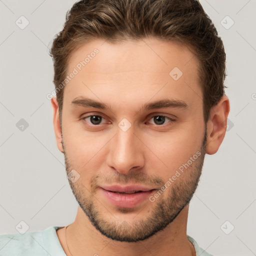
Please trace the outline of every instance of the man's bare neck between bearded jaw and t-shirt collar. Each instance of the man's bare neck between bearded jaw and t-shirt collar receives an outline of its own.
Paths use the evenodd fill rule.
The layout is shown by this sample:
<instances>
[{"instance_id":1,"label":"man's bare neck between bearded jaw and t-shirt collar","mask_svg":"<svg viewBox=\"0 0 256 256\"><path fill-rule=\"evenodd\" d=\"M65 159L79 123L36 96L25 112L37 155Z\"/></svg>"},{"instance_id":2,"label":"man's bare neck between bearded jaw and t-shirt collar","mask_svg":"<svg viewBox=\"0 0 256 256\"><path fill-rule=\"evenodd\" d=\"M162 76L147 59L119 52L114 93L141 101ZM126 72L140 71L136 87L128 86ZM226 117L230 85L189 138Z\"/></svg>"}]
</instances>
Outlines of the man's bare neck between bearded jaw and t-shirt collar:
<instances>
[{"instance_id":1,"label":"man's bare neck between bearded jaw and t-shirt collar","mask_svg":"<svg viewBox=\"0 0 256 256\"><path fill-rule=\"evenodd\" d=\"M194 248L186 236L188 205L163 230L138 242L114 241L102 235L91 224L83 210L78 207L74 222L66 232L66 240L71 255L187 255L194 256ZM60 243L69 256L64 235L59 235ZM64 245L65 244L65 245Z\"/></svg>"}]
</instances>

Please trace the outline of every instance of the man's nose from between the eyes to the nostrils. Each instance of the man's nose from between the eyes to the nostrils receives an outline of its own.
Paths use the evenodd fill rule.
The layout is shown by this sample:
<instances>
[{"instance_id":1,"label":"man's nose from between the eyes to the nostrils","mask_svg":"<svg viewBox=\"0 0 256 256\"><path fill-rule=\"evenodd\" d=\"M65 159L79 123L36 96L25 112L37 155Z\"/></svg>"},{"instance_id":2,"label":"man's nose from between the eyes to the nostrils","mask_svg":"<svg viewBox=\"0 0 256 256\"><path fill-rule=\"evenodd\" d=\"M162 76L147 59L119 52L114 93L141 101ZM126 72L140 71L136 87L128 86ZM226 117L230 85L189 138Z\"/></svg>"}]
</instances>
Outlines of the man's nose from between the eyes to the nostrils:
<instances>
[{"instance_id":1,"label":"man's nose from between the eyes to the nostrils","mask_svg":"<svg viewBox=\"0 0 256 256\"><path fill-rule=\"evenodd\" d=\"M126 131L117 127L116 134L108 146L106 163L116 171L127 174L131 168L140 169L144 166L141 141L134 134L132 126Z\"/></svg>"}]
</instances>

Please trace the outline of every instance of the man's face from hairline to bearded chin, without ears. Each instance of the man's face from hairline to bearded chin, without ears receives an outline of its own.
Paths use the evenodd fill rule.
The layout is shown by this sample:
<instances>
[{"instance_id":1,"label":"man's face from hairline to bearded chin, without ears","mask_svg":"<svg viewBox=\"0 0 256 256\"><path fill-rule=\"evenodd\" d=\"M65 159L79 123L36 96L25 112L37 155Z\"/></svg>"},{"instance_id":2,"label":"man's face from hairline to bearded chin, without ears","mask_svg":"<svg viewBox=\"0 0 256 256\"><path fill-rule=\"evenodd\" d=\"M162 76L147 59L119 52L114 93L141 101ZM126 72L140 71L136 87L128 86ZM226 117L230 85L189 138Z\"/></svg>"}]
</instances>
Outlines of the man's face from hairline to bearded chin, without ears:
<instances>
[{"instance_id":1,"label":"man's face from hairline to bearded chin, without ears","mask_svg":"<svg viewBox=\"0 0 256 256\"><path fill-rule=\"evenodd\" d=\"M188 48L154 38L94 40L71 55L66 171L80 207L107 237L146 239L191 199L206 142L197 68Z\"/></svg>"}]
</instances>

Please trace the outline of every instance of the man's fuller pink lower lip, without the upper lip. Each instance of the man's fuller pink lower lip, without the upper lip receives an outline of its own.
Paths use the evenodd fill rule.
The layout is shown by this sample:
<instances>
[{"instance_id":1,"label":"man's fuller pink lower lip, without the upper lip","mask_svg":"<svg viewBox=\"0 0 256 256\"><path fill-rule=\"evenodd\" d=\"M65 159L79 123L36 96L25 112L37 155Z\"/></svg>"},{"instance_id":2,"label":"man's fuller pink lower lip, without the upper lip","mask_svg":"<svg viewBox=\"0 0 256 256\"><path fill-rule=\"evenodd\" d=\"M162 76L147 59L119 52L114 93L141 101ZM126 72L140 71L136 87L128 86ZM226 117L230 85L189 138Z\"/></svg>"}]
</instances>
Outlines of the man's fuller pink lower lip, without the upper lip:
<instances>
[{"instance_id":1,"label":"man's fuller pink lower lip, without the upper lip","mask_svg":"<svg viewBox=\"0 0 256 256\"><path fill-rule=\"evenodd\" d=\"M108 201L113 205L117 207L130 208L130 207L136 206L140 202L147 199L155 189L144 191L144 192L132 193L132 194L115 193L115 192L107 191L103 188L101 188L101 190L106 196L106 198L108 199Z\"/></svg>"}]
</instances>

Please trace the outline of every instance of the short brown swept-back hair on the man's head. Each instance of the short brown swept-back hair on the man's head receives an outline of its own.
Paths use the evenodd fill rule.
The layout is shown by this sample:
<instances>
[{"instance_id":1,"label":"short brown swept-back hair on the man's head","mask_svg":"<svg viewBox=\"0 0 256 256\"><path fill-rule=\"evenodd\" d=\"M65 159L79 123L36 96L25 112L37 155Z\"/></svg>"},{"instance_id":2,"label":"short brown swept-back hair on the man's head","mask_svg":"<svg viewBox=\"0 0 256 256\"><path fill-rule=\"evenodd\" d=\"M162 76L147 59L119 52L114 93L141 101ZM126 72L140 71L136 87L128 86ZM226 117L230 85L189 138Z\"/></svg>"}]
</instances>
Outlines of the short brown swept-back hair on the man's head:
<instances>
[{"instance_id":1,"label":"short brown swept-back hair on the man's head","mask_svg":"<svg viewBox=\"0 0 256 256\"><path fill-rule=\"evenodd\" d=\"M81 0L66 13L50 55L61 123L63 89L70 54L93 39L118 42L154 36L188 46L198 57L204 121L224 95L225 51L209 16L196 0Z\"/></svg>"}]
</instances>

